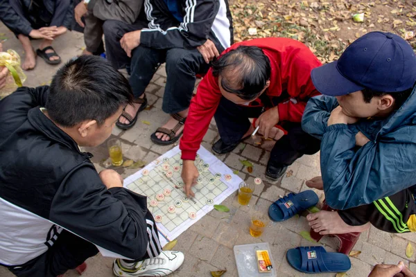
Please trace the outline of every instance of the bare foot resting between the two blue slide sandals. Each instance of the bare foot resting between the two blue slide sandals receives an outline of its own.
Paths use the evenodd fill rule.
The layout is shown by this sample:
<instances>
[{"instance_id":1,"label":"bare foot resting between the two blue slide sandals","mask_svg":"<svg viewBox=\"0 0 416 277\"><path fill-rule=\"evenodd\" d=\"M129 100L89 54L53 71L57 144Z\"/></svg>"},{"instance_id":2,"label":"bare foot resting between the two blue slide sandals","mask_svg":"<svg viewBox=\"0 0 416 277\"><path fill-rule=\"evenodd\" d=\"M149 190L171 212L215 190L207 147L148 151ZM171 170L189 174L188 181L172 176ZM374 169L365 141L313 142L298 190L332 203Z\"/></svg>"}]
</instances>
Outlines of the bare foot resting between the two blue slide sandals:
<instances>
[{"instance_id":1,"label":"bare foot resting between the two blue slide sandals","mask_svg":"<svg viewBox=\"0 0 416 277\"><path fill-rule=\"evenodd\" d=\"M350 226L338 215L336 211L320 211L306 216L309 226L320 235L361 233L370 228L370 222L361 226Z\"/></svg>"}]
</instances>

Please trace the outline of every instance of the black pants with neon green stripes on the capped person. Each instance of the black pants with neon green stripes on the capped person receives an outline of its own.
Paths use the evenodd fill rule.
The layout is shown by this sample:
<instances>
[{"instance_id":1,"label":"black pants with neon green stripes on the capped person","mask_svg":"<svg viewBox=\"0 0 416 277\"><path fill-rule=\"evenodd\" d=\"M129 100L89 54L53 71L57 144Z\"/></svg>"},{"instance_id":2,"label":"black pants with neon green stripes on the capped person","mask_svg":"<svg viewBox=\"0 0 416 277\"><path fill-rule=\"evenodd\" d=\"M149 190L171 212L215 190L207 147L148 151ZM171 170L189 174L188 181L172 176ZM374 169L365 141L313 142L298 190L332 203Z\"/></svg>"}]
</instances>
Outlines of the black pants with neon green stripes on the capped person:
<instances>
[{"instance_id":1,"label":"black pants with neon green stripes on the capped person","mask_svg":"<svg viewBox=\"0 0 416 277\"><path fill-rule=\"evenodd\" d=\"M412 189L402 190L372 204L338 211L340 217L350 226L360 226L370 222L374 227L389 233L406 233L410 216L415 216L416 205ZM415 231L415 230L413 230Z\"/></svg>"}]
</instances>

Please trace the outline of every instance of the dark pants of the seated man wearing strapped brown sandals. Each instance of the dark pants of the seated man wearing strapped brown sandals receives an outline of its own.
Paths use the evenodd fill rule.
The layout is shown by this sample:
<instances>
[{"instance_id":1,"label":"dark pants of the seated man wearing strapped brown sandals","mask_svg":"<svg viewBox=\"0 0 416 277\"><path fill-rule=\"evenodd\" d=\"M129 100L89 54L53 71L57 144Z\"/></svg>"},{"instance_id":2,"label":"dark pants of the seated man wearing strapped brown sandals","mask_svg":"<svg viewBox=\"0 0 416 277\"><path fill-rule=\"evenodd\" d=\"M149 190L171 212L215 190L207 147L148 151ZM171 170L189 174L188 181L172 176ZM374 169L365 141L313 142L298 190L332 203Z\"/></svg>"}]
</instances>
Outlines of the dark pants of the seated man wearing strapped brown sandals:
<instances>
[{"instance_id":1,"label":"dark pants of the seated man wearing strapped brown sandals","mask_svg":"<svg viewBox=\"0 0 416 277\"><path fill-rule=\"evenodd\" d=\"M221 51L223 49L218 49L218 52ZM175 114L189 107L196 74L207 73L209 64L196 49L155 49L139 46L132 51L130 75L135 98L144 93L157 68L164 62L167 78L162 109L167 114Z\"/></svg>"}]
</instances>

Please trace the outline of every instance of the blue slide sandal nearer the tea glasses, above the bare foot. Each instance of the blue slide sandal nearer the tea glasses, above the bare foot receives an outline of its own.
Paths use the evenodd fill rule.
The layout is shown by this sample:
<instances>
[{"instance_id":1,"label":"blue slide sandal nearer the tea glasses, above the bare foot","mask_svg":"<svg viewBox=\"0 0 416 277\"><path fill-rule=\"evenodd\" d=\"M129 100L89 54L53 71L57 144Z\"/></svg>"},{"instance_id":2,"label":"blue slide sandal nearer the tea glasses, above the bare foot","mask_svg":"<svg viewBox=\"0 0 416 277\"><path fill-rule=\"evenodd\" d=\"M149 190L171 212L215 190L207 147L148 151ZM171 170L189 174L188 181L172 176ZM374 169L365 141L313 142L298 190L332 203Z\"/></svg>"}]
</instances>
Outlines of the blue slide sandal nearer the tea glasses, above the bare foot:
<instances>
[{"instance_id":1,"label":"blue slide sandal nearer the tea glasses, above the bare foot","mask_svg":"<svg viewBox=\"0 0 416 277\"><path fill-rule=\"evenodd\" d=\"M271 220L281 222L288 220L297 213L318 204L318 195L313 190L302 193L289 193L270 205L268 214Z\"/></svg>"}]
</instances>

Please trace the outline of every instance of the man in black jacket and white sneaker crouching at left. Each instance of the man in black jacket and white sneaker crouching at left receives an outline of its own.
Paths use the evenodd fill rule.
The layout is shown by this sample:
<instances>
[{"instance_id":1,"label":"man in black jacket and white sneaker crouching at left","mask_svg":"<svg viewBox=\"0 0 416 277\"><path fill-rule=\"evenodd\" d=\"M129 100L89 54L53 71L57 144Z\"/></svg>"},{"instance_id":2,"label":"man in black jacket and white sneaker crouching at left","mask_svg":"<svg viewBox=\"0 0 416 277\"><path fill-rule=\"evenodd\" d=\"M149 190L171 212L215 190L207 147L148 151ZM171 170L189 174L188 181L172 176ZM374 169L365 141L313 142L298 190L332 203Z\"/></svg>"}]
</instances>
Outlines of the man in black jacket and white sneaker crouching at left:
<instances>
[{"instance_id":1,"label":"man in black jacket and white sneaker crouching at left","mask_svg":"<svg viewBox=\"0 0 416 277\"><path fill-rule=\"evenodd\" d=\"M114 170L98 175L78 147L103 143L129 102L128 81L95 56L65 64L50 88L22 87L0 101L0 265L55 277L99 250L123 259L117 276L180 267L183 254L160 247L146 197L123 188Z\"/></svg>"}]
</instances>

